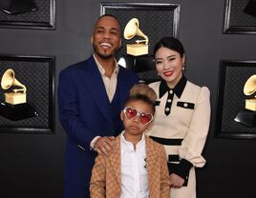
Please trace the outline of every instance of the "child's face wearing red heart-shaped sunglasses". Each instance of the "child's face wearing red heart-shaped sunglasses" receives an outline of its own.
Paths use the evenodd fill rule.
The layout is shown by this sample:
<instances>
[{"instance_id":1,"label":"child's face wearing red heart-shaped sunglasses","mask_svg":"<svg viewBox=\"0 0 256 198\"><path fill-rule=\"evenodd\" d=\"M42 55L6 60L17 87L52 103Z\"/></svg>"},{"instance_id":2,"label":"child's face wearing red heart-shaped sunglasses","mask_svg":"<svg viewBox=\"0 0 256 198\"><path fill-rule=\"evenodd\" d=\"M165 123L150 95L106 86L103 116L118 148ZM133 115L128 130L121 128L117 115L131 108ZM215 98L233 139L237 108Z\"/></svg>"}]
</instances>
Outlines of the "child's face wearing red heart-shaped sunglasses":
<instances>
[{"instance_id":1,"label":"child's face wearing red heart-shaped sunglasses","mask_svg":"<svg viewBox=\"0 0 256 198\"><path fill-rule=\"evenodd\" d=\"M138 113L137 116L129 119L129 115L125 116L124 110L121 111L120 117L123 122L125 132L129 133L130 135L141 136L146 129L150 128L150 124L152 123L153 120L153 109L151 108L150 105L140 100L128 102L125 108L127 107L130 107L130 110L132 110L133 113L136 113L137 111L140 114ZM145 124L145 122L147 121L150 122Z\"/></svg>"}]
</instances>

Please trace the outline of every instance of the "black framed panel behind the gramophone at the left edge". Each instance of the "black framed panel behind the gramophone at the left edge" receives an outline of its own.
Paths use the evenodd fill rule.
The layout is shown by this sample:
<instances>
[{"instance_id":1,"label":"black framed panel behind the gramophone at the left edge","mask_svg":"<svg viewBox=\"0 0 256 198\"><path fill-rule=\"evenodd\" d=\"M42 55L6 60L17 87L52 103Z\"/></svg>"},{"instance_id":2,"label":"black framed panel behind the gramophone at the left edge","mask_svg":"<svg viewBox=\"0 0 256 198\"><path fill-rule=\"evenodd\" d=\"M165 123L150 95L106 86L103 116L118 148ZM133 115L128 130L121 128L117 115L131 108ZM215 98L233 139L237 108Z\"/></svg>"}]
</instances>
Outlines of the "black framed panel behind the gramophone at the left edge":
<instances>
[{"instance_id":1,"label":"black framed panel behind the gramophone at the left edge","mask_svg":"<svg viewBox=\"0 0 256 198\"><path fill-rule=\"evenodd\" d=\"M0 55L0 75L10 68L15 70L22 84L26 85L27 102L38 116L20 119L16 115L12 120L0 116L0 132L53 133L54 57ZM2 102L5 101L3 92L0 90ZM26 113L29 112L24 111Z\"/></svg>"}]
</instances>

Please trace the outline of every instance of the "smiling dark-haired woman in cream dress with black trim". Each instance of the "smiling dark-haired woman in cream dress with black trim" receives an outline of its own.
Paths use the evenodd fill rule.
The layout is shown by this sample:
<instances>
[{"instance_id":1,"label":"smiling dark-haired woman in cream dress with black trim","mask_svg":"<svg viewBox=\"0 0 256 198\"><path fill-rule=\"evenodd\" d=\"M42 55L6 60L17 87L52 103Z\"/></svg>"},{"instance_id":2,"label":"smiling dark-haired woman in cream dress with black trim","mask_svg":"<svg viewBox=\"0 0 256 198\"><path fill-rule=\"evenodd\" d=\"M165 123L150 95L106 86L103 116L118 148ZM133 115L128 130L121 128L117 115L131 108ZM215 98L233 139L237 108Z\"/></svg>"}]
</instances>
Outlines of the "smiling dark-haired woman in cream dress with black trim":
<instances>
[{"instance_id":1,"label":"smiling dark-haired woman in cream dress with black trim","mask_svg":"<svg viewBox=\"0 0 256 198\"><path fill-rule=\"evenodd\" d=\"M202 151L210 122L210 91L188 81L181 42L164 37L154 49L162 78L150 84L157 94L156 119L149 135L162 144L168 158L172 198L195 198L195 168L202 168Z\"/></svg>"}]
</instances>

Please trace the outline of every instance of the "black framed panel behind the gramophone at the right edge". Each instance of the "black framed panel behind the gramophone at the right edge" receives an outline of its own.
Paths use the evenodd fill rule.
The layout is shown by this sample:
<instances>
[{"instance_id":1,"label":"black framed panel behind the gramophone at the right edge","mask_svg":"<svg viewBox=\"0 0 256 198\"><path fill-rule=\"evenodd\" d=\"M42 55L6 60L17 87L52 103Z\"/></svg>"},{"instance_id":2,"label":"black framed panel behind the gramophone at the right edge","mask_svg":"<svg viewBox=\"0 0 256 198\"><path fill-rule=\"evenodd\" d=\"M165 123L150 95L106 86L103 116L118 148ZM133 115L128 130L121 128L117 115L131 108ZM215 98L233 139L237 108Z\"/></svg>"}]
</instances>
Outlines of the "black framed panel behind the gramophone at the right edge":
<instances>
[{"instance_id":1,"label":"black framed panel behind the gramophone at the right edge","mask_svg":"<svg viewBox=\"0 0 256 198\"><path fill-rule=\"evenodd\" d=\"M247 117L244 86L248 77L256 73L256 62L221 61L220 66L216 136L220 138L256 138L256 129L253 126L246 126L245 123L242 125L234 120L241 110ZM240 115L238 116L241 118Z\"/></svg>"}]
</instances>

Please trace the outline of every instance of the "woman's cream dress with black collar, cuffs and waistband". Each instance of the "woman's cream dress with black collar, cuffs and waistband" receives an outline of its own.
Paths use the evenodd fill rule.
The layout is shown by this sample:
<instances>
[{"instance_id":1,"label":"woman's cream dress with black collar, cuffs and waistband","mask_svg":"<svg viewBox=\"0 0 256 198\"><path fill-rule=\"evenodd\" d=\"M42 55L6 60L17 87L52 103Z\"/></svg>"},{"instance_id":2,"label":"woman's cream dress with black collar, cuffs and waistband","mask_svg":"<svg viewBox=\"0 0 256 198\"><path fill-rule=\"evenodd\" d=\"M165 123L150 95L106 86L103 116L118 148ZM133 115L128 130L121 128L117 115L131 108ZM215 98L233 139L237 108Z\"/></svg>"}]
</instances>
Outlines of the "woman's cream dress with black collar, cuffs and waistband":
<instances>
[{"instance_id":1,"label":"woman's cream dress with black collar, cuffs and waistband","mask_svg":"<svg viewBox=\"0 0 256 198\"><path fill-rule=\"evenodd\" d=\"M147 135L164 146L168 166L179 164L171 172L178 172L187 182L186 187L171 188L171 198L196 198L195 168L205 164L202 151L210 123L210 91L184 76L174 89L167 89L164 81L149 86L158 99L154 124Z\"/></svg>"}]
</instances>

